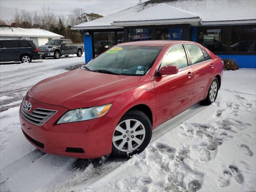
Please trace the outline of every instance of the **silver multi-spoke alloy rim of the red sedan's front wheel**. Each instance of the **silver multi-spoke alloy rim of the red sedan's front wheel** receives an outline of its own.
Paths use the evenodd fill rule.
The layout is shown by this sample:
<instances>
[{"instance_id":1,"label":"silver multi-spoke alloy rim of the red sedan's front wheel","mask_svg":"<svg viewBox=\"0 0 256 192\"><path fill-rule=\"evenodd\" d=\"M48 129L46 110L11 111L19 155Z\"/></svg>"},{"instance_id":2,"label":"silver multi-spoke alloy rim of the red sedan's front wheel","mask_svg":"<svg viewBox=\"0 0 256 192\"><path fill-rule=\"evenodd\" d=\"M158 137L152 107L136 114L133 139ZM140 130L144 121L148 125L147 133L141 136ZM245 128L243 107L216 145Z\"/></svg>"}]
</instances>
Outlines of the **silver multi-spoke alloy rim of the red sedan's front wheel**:
<instances>
[{"instance_id":1,"label":"silver multi-spoke alloy rim of the red sedan's front wheel","mask_svg":"<svg viewBox=\"0 0 256 192\"><path fill-rule=\"evenodd\" d=\"M136 150L144 141L146 130L142 122L127 119L120 122L114 131L112 142L122 152Z\"/></svg>"}]
</instances>

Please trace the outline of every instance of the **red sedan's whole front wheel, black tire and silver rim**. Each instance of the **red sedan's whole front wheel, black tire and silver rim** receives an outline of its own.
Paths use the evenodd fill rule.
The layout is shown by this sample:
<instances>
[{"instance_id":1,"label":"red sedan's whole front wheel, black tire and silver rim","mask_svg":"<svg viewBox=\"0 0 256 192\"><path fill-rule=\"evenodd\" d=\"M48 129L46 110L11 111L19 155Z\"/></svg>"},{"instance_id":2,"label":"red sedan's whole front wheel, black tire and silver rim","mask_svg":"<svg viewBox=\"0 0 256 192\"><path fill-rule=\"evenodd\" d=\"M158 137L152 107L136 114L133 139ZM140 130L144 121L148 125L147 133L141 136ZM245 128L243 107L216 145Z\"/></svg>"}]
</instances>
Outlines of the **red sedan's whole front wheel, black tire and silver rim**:
<instances>
[{"instance_id":1,"label":"red sedan's whole front wheel, black tire and silver rim","mask_svg":"<svg viewBox=\"0 0 256 192\"><path fill-rule=\"evenodd\" d=\"M127 129L126 122L130 122L128 124L132 128ZM148 116L140 110L130 110L124 114L114 130L111 155L129 157L139 154L148 146L151 136L152 125Z\"/></svg>"}]
</instances>

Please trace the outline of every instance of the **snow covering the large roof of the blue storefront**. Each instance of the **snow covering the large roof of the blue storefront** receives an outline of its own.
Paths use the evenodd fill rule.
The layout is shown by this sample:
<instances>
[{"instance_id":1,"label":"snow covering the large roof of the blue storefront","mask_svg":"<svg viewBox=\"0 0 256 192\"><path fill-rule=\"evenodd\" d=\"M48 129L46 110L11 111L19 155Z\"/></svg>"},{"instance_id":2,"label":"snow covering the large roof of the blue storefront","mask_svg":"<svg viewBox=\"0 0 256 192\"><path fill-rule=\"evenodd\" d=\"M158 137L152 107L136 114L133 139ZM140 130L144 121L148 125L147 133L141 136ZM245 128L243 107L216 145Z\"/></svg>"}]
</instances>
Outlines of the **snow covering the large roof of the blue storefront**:
<instances>
[{"instance_id":1,"label":"snow covering the large roof of the blue storefront","mask_svg":"<svg viewBox=\"0 0 256 192\"><path fill-rule=\"evenodd\" d=\"M164 0L159 2L164 2L164 4L146 2L109 16L76 25L72 29L120 28L121 25L118 25L118 22L134 22L142 19L144 21L148 19L174 20L192 15L199 16L202 24L210 24L210 22L212 24L213 22L229 24L226 21L234 21L230 24L256 22L255 0L170 0L169 2Z\"/></svg>"}]
</instances>

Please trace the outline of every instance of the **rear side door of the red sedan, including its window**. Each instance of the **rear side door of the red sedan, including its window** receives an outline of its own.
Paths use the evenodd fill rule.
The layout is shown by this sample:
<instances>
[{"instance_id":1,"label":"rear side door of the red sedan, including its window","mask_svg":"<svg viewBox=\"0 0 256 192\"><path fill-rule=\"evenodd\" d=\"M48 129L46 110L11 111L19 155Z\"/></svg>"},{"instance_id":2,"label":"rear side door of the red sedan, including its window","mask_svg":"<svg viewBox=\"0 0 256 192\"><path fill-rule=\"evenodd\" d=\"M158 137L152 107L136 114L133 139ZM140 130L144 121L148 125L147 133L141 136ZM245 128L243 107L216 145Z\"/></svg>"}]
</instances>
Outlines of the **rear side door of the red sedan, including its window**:
<instances>
[{"instance_id":1,"label":"rear side door of the red sedan, including its window","mask_svg":"<svg viewBox=\"0 0 256 192\"><path fill-rule=\"evenodd\" d=\"M192 102L202 99L214 75L214 62L212 58L196 44L185 44L190 55L191 66L194 71L194 89Z\"/></svg>"}]
</instances>

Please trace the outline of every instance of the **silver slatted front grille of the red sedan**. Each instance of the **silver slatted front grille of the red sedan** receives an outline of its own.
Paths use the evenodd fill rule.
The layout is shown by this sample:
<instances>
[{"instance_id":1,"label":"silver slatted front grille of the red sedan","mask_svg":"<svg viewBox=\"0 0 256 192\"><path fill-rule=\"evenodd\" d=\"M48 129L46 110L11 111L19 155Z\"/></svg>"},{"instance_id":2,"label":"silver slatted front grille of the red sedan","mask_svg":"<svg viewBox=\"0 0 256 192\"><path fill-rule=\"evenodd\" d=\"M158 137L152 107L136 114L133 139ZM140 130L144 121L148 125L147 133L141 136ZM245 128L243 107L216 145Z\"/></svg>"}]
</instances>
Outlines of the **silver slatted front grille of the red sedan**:
<instances>
[{"instance_id":1,"label":"silver slatted front grille of the red sedan","mask_svg":"<svg viewBox=\"0 0 256 192\"><path fill-rule=\"evenodd\" d=\"M51 116L53 116L57 112L55 110L36 108L34 111L28 113L26 111L25 105L26 105L26 102L24 99L22 101L20 114L25 120L38 126L44 124L44 122L46 122Z\"/></svg>"}]
</instances>

